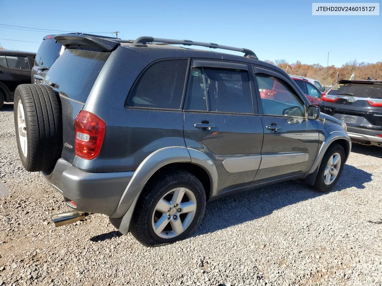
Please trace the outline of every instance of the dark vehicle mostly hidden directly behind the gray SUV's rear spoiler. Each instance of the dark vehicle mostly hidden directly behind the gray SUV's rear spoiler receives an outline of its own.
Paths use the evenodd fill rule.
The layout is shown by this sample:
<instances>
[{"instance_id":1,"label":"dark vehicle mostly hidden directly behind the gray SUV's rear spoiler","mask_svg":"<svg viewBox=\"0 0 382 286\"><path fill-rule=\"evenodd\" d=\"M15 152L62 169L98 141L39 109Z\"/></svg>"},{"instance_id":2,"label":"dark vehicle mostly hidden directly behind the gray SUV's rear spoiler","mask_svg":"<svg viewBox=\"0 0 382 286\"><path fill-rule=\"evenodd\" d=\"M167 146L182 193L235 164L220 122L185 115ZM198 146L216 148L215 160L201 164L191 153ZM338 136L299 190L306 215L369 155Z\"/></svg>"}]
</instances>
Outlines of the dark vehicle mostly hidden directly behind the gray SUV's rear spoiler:
<instances>
[{"instance_id":1,"label":"dark vehicle mostly hidden directly behind the gray SUV's rear spoiler","mask_svg":"<svg viewBox=\"0 0 382 286\"><path fill-rule=\"evenodd\" d=\"M70 33L77 35L90 35L83 33ZM105 37L99 35L91 35L93 37L105 38L105 39L119 39L114 37ZM37 51L36 60L32 68L32 84L40 84L45 75L49 71L50 67L56 61L56 59L63 53L65 47L61 43L54 39L55 35L46 35L42 38L39 50Z\"/></svg>"}]
</instances>

